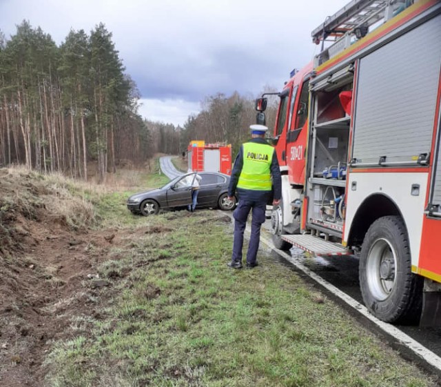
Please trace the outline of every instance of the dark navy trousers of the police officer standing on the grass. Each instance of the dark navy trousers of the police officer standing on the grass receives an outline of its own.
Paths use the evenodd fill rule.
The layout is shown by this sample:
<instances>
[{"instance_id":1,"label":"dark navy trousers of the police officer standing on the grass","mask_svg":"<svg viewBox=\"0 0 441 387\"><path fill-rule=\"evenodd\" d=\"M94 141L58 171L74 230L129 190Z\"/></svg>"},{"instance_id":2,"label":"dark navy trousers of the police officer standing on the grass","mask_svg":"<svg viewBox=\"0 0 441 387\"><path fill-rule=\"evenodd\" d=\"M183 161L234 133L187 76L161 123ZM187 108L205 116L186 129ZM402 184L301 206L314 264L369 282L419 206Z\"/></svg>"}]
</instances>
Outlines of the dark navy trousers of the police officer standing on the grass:
<instances>
[{"instance_id":1,"label":"dark navy trousers of the police officer standing on the grass","mask_svg":"<svg viewBox=\"0 0 441 387\"><path fill-rule=\"evenodd\" d=\"M242 261L243 232L247 226L249 211L252 211L251 237L247 251L247 263L256 262L257 250L260 242L260 226L265 222L265 210L267 207L267 195L260 199L240 199L233 212L234 217L234 244L232 261Z\"/></svg>"}]
</instances>

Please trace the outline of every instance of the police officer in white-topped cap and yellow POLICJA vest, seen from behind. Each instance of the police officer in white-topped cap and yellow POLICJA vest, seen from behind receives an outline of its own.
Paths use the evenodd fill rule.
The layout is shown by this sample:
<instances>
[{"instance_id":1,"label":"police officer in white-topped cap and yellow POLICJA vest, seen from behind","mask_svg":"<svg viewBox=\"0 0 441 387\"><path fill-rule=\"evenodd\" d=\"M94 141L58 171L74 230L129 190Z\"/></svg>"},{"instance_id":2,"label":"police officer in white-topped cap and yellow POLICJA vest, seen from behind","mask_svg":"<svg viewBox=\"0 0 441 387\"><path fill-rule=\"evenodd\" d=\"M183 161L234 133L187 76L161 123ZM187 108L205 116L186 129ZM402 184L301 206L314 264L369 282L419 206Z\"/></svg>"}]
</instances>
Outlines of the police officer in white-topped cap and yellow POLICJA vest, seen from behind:
<instances>
[{"instance_id":1,"label":"police officer in white-topped cap and yellow POLICJA vest, seen from behind","mask_svg":"<svg viewBox=\"0 0 441 387\"><path fill-rule=\"evenodd\" d=\"M273 206L280 204L282 180L276 151L265 141L268 128L263 125L249 127L252 139L240 146L229 181L228 197L233 199L237 190L239 203L234 210L234 244L232 261L228 266L242 268L243 232L249 211L252 211L251 237L247 251L247 268L258 266L256 261L260 241L260 226L265 221L267 202L274 190ZM271 181L272 177L272 181Z\"/></svg>"}]
</instances>

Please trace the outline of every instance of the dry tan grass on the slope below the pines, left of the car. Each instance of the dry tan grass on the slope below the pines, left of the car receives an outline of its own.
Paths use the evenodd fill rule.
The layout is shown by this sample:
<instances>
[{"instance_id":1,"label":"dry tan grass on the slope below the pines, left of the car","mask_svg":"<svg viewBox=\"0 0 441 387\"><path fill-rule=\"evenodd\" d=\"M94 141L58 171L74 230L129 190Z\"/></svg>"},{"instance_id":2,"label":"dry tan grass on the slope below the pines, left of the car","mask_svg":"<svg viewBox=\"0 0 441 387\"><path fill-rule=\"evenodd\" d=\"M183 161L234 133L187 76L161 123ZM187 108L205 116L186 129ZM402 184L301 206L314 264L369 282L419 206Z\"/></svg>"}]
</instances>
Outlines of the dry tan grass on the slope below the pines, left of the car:
<instances>
[{"instance_id":1,"label":"dry tan grass on the slope below the pines, left of the car","mask_svg":"<svg viewBox=\"0 0 441 387\"><path fill-rule=\"evenodd\" d=\"M54 221L73 230L84 230L97 224L97 215L103 219L108 211L125 213L125 200L134 192L163 186L168 180L159 173L158 158L147 161L144 168L108 174L103 184L94 183L93 178L77 181L57 172L41 175L23 166L1 168L0 221L10 216L11 211L19 211L26 219L38 220L39 212L44 211ZM116 208L115 200L118 201ZM108 203L112 204L110 208L106 206ZM4 231L9 238L11 233Z\"/></svg>"}]
</instances>

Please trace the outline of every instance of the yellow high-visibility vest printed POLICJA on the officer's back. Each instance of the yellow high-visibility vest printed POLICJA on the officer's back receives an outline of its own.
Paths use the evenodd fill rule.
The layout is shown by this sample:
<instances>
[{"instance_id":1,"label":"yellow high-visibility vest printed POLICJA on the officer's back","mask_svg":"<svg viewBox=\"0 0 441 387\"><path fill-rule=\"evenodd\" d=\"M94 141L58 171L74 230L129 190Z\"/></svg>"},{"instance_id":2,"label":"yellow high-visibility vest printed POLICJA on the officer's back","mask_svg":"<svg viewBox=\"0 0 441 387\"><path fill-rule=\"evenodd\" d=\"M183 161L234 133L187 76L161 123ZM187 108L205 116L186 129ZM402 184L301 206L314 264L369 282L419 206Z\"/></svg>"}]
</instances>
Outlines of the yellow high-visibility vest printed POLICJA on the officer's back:
<instances>
[{"instance_id":1,"label":"yellow high-visibility vest printed POLICJA on the officer's back","mask_svg":"<svg viewBox=\"0 0 441 387\"><path fill-rule=\"evenodd\" d=\"M243 144L243 166L237 188L244 190L271 190L271 161L274 148L269 144L247 142Z\"/></svg>"}]
</instances>

